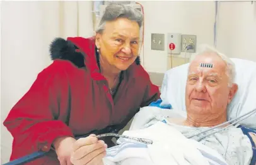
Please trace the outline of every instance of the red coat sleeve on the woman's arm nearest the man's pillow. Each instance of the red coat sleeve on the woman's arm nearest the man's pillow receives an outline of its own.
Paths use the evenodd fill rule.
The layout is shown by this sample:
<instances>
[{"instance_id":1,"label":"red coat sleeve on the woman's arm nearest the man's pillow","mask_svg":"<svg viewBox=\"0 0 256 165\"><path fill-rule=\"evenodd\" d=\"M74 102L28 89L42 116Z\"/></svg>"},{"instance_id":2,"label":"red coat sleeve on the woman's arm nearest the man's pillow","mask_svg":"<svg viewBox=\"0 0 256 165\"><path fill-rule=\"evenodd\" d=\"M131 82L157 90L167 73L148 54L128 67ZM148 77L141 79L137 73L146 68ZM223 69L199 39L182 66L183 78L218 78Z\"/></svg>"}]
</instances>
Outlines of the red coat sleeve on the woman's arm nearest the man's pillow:
<instances>
[{"instance_id":1,"label":"red coat sleeve on the woman's arm nearest the man's pillow","mask_svg":"<svg viewBox=\"0 0 256 165\"><path fill-rule=\"evenodd\" d=\"M148 106L151 102L154 102L160 98L160 90L159 87L154 85L148 73L144 72L144 83L146 85L146 90L144 91L144 98L141 107Z\"/></svg>"}]
</instances>

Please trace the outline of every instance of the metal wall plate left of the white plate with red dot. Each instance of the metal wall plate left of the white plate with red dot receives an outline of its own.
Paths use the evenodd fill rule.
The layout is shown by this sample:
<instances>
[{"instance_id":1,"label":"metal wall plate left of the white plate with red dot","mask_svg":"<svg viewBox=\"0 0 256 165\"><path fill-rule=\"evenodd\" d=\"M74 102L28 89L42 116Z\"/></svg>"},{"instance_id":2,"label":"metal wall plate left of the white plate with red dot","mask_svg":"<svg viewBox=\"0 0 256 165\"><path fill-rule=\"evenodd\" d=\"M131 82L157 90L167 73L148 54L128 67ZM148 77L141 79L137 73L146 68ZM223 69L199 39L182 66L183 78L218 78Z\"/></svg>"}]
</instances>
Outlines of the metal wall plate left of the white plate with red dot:
<instances>
[{"instance_id":1,"label":"metal wall plate left of the white plate with red dot","mask_svg":"<svg viewBox=\"0 0 256 165\"><path fill-rule=\"evenodd\" d=\"M151 34L151 50L165 50L165 35Z\"/></svg>"}]
</instances>

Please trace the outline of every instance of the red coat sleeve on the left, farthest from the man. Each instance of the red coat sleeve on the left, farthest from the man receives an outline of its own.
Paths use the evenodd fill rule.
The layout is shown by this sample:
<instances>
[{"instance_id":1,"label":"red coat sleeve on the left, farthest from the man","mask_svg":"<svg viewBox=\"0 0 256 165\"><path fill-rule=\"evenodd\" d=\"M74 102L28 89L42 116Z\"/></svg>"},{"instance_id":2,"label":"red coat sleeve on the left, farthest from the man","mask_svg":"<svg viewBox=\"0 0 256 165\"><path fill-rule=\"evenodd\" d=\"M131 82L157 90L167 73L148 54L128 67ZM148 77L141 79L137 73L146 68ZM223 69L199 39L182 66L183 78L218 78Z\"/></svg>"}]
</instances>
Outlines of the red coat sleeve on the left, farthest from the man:
<instances>
[{"instance_id":1,"label":"red coat sleeve on the left, farthest from the man","mask_svg":"<svg viewBox=\"0 0 256 165\"><path fill-rule=\"evenodd\" d=\"M66 100L68 95L67 81L60 74L50 73L49 70L38 74L30 90L4 120L4 126L14 138L13 152L49 151L57 137L73 137L65 121L59 119L60 114L63 116L67 113L68 106L61 104L61 100Z\"/></svg>"}]
</instances>

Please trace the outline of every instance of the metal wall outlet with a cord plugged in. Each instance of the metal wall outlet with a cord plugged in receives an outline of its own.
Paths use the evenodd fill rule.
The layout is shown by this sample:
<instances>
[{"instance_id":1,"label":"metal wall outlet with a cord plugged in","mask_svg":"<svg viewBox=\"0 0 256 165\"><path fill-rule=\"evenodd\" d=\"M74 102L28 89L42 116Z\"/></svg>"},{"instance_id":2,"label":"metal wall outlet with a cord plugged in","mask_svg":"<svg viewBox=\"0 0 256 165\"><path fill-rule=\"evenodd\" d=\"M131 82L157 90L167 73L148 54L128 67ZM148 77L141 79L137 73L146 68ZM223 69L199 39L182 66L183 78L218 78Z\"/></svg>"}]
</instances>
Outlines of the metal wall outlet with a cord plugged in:
<instances>
[{"instance_id":1,"label":"metal wall outlet with a cord plugged in","mask_svg":"<svg viewBox=\"0 0 256 165\"><path fill-rule=\"evenodd\" d=\"M185 52L185 48L192 45L192 49L187 50L189 53L195 53L197 43L197 36L195 35L182 35L182 52Z\"/></svg>"}]
</instances>

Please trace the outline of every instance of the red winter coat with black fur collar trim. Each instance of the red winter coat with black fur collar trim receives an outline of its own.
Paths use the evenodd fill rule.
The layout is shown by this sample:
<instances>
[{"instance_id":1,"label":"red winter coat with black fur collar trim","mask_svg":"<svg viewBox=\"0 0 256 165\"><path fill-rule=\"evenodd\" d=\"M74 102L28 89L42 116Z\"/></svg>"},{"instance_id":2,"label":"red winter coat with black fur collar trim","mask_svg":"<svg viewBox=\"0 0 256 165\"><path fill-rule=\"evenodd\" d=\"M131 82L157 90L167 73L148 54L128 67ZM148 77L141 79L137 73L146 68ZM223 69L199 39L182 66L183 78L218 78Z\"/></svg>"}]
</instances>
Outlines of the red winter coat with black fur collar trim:
<instances>
[{"instance_id":1,"label":"red winter coat with black fur collar trim","mask_svg":"<svg viewBox=\"0 0 256 165\"><path fill-rule=\"evenodd\" d=\"M124 71L112 99L100 74L91 38L57 38L50 46L54 62L38 74L28 92L4 121L14 137L11 160L32 152L49 151L61 136L79 136L117 125L160 97L158 87L137 59ZM32 164L59 164L56 155Z\"/></svg>"}]
</instances>

